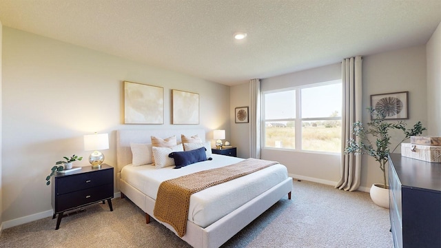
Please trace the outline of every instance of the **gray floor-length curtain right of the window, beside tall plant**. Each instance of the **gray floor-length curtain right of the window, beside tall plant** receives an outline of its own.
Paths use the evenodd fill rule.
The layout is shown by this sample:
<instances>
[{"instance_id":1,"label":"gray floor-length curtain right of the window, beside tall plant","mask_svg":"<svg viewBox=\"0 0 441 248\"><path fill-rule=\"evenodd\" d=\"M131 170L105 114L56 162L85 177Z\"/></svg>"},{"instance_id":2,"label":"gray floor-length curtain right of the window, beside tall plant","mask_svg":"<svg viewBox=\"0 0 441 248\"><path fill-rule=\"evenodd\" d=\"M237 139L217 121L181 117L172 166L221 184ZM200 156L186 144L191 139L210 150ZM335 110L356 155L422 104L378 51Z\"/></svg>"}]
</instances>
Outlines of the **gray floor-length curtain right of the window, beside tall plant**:
<instances>
[{"instance_id":1,"label":"gray floor-length curtain right of the window, beside tall plant","mask_svg":"<svg viewBox=\"0 0 441 248\"><path fill-rule=\"evenodd\" d=\"M355 56L342 60L342 158L340 181L336 188L354 191L360 187L361 155L344 154L352 134L352 123L362 118L362 57Z\"/></svg>"}]
</instances>

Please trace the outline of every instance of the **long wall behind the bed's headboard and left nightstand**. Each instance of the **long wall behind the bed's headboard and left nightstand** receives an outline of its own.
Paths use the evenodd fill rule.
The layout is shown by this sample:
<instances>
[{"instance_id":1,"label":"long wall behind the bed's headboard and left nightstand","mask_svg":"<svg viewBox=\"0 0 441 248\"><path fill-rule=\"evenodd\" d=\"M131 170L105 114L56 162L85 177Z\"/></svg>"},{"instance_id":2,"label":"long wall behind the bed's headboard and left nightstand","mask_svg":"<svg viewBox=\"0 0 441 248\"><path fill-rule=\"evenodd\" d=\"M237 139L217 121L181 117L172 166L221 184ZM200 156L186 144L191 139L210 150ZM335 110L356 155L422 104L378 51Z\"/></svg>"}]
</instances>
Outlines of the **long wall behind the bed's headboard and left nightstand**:
<instances>
[{"instance_id":1,"label":"long wall behind the bed's headboard and left nightstand","mask_svg":"<svg viewBox=\"0 0 441 248\"><path fill-rule=\"evenodd\" d=\"M164 125L123 124L123 81L164 87ZM199 94L199 125L170 124L172 89ZM229 104L222 104L229 103L226 85L7 27L1 96L3 223L52 213L45 177L62 156L89 156L83 134L109 133L103 154L115 166L115 130L204 128L207 141L212 130L225 129L227 138L231 133Z\"/></svg>"}]
</instances>

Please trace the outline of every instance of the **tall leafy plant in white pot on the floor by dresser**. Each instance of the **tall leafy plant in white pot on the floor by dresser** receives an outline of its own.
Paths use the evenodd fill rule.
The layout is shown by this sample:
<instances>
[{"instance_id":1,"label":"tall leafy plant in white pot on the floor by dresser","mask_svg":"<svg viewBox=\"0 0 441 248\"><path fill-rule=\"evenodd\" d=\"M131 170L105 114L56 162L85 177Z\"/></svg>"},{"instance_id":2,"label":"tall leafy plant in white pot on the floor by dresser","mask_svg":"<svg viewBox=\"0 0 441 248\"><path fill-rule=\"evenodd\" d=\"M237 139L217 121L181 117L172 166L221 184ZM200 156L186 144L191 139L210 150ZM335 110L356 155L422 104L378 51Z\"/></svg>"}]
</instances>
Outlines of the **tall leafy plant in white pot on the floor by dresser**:
<instances>
[{"instance_id":1,"label":"tall leafy plant in white pot on the floor by dresser","mask_svg":"<svg viewBox=\"0 0 441 248\"><path fill-rule=\"evenodd\" d=\"M370 190L371 199L376 205L389 208L389 194L387 192L389 186L386 179L386 164L389 153L391 153L389 149L389 145L391 145L389 130L401 130L403 132L404 138L398 143L400 145L411 136L421 135L422 131L426 130L426 128L418 121L411 129L406 129L407 124L403 121L391 123L387 121L384 112L373 110L372 107L369 107L368 111L372 116L372 120L367 123L367 127L364 127L360 121L353 123L353 134L358 137L358 140L350 138L347 141L345 154L367 154L378 161L379 167L383 172L383 183L374 183L372 185ZM396 145L392 152L396 150L398 145Z\"/></svg>"}]
</instances>

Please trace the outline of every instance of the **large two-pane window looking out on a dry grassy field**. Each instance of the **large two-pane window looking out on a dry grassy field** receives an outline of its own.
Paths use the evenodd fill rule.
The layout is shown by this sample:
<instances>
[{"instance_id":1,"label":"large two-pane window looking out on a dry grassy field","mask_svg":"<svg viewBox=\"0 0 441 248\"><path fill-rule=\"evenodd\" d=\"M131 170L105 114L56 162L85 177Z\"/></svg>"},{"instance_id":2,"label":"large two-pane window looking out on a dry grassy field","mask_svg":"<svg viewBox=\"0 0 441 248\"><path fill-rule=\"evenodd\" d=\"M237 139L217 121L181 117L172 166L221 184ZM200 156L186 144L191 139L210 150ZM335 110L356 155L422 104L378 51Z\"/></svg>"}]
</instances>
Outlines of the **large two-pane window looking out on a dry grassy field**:
<instances>
[{"instance_id":1,"label":"large two-pane window looking out on a dry grassy field","mask_svg":"<svg viewBox=\"0 0 441 248\"><path fill-rule=\"evenodd\" d=\"M263 92L262 104L265 147L340 152L340 80Z\"/></svg>"}]
</instances>

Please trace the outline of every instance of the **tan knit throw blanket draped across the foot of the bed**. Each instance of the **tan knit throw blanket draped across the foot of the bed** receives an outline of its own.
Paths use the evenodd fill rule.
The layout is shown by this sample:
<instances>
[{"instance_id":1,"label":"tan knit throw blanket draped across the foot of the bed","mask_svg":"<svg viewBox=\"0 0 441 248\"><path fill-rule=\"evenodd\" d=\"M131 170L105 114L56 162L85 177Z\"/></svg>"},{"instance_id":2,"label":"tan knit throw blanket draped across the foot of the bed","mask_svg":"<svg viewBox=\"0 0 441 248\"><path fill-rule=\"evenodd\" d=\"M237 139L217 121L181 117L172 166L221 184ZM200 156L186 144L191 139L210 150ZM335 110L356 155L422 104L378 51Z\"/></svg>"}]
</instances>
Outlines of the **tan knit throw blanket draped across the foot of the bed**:
<instances>
[{"instance_id":1,"label":"tan knit throw blanket draped across the foot of the bed","mask_svg":"<svg viewBox=\"0 0 441 248\"><path fill-rule=\"evenodd\" d=\"M172 225L182 237L187 229L192 194L276 164L274 161L248 158L233 165L165 180L159 185L153 214L158 220Z\"/></svg>"}]
</instances>

